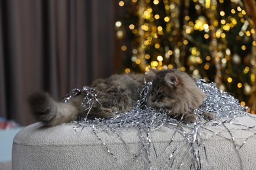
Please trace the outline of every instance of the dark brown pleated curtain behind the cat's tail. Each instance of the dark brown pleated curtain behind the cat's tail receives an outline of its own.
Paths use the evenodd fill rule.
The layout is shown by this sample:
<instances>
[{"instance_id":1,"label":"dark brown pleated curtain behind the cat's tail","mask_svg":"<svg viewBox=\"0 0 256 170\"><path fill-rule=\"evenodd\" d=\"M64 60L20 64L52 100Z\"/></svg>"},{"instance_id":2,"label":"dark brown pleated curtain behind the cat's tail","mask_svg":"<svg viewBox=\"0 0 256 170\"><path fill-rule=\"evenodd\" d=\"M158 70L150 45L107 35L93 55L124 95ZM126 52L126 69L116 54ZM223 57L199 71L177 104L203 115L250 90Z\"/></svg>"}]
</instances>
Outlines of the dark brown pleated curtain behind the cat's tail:
<instances>
[{"instance_id":1,"label":"dark brown pleated curtain behind the cat's tail","mask_svg":"<svg viewBox=\"0 0 256 170\"><path fill-rule=\"evenodd\" d=\"M0 116L34 122L26 98L60 99L113 73L114 0L0 0Z\"/></svg>"}]
</instances>

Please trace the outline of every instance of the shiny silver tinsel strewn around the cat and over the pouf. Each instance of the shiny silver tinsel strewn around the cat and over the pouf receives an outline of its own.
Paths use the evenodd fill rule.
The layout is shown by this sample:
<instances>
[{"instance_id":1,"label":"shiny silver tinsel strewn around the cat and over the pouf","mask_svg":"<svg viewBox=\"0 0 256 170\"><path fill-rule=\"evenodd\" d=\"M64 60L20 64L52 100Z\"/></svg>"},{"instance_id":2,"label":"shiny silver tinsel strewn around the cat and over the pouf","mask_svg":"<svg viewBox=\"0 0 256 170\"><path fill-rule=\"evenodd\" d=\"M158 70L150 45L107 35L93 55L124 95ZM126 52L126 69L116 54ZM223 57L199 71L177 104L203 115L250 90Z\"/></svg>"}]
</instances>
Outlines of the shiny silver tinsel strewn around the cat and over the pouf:
<instances>
[{"instance_id":1,"label":"shiny silver tinsel strewn around the cat and over the pouf","mask_svg":"<svg viewBox=\"0 0 256 170\"><path fill-rule=\"evenodd\" d=\"M206 99L199 109L190 110L190 112L198 114L198 120L194 124L182 124L182 120L179 121L171 118L168 115L169 112L166 110L154 110L147 107L145 102L147 100L148 90L150 89L151 82L145 82L145 86L140 93L141 99L137 101L135 107L133 107L133 109L131 109L129 112L120 112L116 117L109 119L95 118L95 120L88 120L87 116L85 116L85 118L80 118L74 122L74 129L75 131L80 131L83 129L83 127L92 127L93 132L100 141L102 141L102 139L98 136L98 130L112 131L121 139L119 132L123 131L123 129L138 129L142 148L138 151L138 154L136 154L134 158L137 159L142 155L146 156L146 160L148 161L148 169L150 169L152 166L150 154L154 153L157 155L156 150L154 150L154 143L152 143L151 132L153 130L160 129L162 126L167 126L174 129L175 133L181 133L184 136L184 139L187 140L188 145L190 146L189 152L192 160L191 167L194 169L201 169L202 165L198 146L203 143L203 140L200 140L199 129L205 125L205 120L203 120L203 117L200 116L200 113L214 112L216 114L216 120L219 120L220 118L230 118L230 120L232 120L232 118L237 116L245 116L247 114L247 108L240 105L238 99L236 99L234 96L219 90L215 83L211 82L208 84L205 82L205 80L195 80L195 82L196 86L205 92ZM93 103L98 102L96 98L97 92L93 88L85 86L82 91L78 89L72 90L72 92L68 94L63 101L67 102L69 99L75 95L79 95L81 92L87 94L81 105L85 107L88 115ZM226 122L228 122L228 120L226 120ZM222 124L222 122L217 124ZM212 126L215 125L216 124L212 124ZM190 129L190 131L187 131L187 128ZM174 138L175 134L173 134L172 141ZM111 150L109 150L107 144L104 142L102 142L102 144L106 147L107 152L114 156ZM125 141L123 141L123 144L126 145ZM175 159L172 157L173 155L170 156L167 164L172 164L172 161ZM183 163L181 163L180 167L182 165ZM169 165L169 167L171 167L171 165Z\"/></svg>"}]
</instances>

